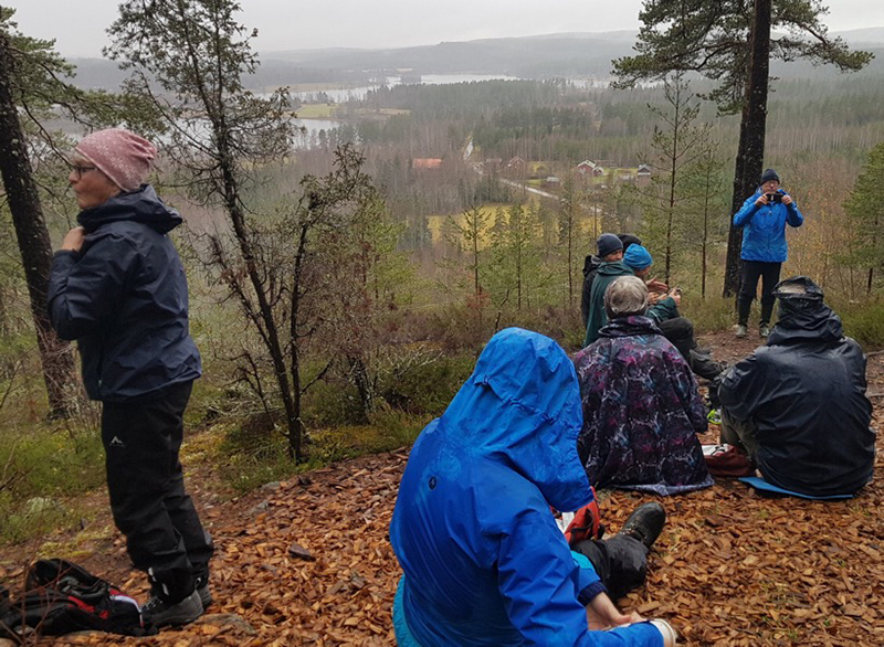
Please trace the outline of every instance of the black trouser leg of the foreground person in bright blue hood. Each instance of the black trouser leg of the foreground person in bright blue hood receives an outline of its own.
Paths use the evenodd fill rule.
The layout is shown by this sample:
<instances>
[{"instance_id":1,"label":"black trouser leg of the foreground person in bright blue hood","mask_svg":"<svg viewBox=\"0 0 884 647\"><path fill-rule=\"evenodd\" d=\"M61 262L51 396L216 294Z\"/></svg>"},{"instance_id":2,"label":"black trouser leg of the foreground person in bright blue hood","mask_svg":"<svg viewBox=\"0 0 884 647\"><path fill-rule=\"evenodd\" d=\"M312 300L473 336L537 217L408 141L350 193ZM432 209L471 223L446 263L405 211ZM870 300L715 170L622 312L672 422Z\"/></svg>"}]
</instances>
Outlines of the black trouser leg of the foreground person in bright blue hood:
<instances>
[{"instance_id":1,"label":"black trouser leg of the foreground person in bright blue hood","mask_svg":"<svg viewBox=\"0 0 884 647\"><path fill-rule=\"evenodd\" d=\"M571 550L583 554L596 569L611 600L644 584L648 574L648 549L642 542L625 534L611 539L581 541Z\"/></svg>"}]
</instances>

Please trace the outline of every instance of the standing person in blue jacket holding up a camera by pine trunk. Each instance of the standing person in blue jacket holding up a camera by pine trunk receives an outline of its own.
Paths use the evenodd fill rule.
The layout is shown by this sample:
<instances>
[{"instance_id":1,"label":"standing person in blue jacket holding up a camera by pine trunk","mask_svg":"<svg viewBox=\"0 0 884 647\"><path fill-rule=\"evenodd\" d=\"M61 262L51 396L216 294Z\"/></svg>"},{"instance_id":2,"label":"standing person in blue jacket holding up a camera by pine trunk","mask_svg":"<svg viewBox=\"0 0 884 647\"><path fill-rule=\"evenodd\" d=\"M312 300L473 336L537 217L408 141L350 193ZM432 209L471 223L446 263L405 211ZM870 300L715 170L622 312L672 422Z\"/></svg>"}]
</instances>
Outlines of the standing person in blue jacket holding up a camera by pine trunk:
<instances>
[{"instance_id":1,"label":"standing person in blue jacket holding up a camera by pine trunk","mask_svg":"<svg viewBox=\"0 0 884 647\"><path fill-rule=\"evenodd\" d=\"M761 174L761 185L734 215L734 226L743 227L743 276L737 297L737 337L746 337L749 310L761 278L761 321L758 333L770 332L774 312L774 286L780 280L780 267L787 256L786 225L800 227L804 216L786 191L774 169Z\"/></svg>"}]
</instances>

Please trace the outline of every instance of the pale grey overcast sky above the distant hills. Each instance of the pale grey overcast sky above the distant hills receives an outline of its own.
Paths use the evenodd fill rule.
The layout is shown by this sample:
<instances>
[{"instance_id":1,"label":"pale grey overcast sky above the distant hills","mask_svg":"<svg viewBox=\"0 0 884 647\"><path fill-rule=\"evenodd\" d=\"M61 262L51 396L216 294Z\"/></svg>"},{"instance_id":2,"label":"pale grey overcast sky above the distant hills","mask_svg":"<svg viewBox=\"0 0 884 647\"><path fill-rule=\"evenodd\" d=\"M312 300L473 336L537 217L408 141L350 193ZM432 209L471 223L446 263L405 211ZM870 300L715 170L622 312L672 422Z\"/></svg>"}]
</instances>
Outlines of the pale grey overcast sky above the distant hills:
<instances>
[{"instance_id":1,"label":"pale grey overcast sky above the distant hills","mask_svg":"<svg viewBox=\"0 0 884 647\"><path fill-rule=\"evenodd\" d=\"M712 0L711 0L712 1ZM120 0L0 0L22 33L64 56L101 56ZM638 29L641 0L241 0L255 50L401 47L442 41ZM832 31L884 26L884 0L829 0Z\"/></svg>"}]
</instances>

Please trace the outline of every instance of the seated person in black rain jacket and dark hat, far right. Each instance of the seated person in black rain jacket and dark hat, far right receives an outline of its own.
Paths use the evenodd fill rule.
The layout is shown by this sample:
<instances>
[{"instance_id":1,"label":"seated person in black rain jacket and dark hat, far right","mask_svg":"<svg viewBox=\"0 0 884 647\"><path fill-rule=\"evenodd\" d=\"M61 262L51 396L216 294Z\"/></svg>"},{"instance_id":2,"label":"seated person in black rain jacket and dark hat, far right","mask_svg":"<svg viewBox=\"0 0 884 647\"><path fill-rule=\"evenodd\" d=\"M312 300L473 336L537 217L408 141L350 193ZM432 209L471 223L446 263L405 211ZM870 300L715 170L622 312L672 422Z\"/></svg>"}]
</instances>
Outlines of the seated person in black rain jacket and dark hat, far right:
<instances>
[{"instance_id":1,"label":"seated person in black rain jacket and dark hat, far right","mask_svg":"<svg viewBox=\"0 0 884 647\"><path fill-rule=\"evenodd\" d=\"M872 479L875 433L865 356L810 278L780 282L779 321L722 379L722 441L765 479L811 497L851 495Z\"/></svg>"}]
</instances>

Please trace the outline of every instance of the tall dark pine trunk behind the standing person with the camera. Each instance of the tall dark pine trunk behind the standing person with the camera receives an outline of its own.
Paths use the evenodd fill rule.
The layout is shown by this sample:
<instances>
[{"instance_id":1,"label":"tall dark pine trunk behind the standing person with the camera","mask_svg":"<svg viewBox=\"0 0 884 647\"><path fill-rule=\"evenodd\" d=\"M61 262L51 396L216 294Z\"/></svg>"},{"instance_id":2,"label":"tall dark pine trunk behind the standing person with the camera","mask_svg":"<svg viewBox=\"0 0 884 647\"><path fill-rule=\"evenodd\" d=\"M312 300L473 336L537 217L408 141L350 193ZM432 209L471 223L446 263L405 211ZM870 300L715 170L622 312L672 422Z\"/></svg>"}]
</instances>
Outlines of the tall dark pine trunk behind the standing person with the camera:
<instances>
[{"instance_id":1,"label":"tall dark pine trunk behind the standing person with the camera","mask_svg":"<svg viewBox=\"0 0 884 647\"><path fill-rule=\"evenodd\" d=\"M734 173L734 198L730 215L737 213L743 202L753 194L761 177L765 162L765 131L767 128L767 93L770 72L770 6L771 0L756 0L755 24L751 34L751 59L746 86L746 105L739 129L736 171ZM727 235L727 262L725 266L725 297L739 289L739 254L743 231L730 225Z\"/></svg>"}]
</instances>

